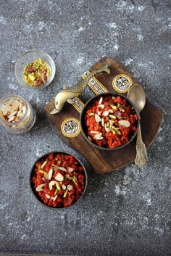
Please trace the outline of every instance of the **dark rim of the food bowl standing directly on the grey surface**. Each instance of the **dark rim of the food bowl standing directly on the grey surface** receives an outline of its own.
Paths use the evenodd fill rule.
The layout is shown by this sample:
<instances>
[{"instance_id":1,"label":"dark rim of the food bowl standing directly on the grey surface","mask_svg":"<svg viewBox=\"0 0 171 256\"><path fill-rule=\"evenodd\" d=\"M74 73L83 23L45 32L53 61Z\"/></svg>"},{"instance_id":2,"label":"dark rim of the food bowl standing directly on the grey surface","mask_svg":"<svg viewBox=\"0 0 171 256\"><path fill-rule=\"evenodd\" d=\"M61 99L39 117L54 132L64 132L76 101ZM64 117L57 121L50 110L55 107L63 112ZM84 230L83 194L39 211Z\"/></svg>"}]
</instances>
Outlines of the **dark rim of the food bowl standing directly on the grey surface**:
<instances>
[{"instance_id":1,"label":"dark rim of the food bowl standing directly on the grey surface","mask_svg":"<svg viewBox=\"0 0 171 256\"><path fill-rule=\"evenodd\" d=\"M67 209L69 207L72 207L73 205L75 205L77 202L80 201L80 199L82 199L83 197L83 194L85 194L85 191L86 191L86 188L87 188L87 181L88 181L88 177L87 177L87 172L86 172L86 168L84 167L84 165L82 164L82 162L80 162L80 160L78 160L77 157L75 157L76 160L78 160L78 162L80 162L80 165L83 167L84 169L84 173L85 173L85 177L86 177L86 184L85 184L85 188L84 188L84 191L83 191L83 194L80 196L80 198L74 202L72 205L68 206L68 207L51 207L49 205L45 205L41 199L38 198L38 194L36 193L36 189L34 188L33 186L33 183L31 182L31 179L33 177L33 172L36 168L36 163L41 160L43 157L46 157L47 155L49 154L53 154L53 153L56 153L56 154L67 154L67 155L71 155L72 157L75 157L73 154L69 154L67 152L63 152L63 151L52 151L52 152L49 152L49 153L46 153L46 154L43 154L41 157L38 157L38 159L36 160L36 162L33 163L32 165L32 168L30 169L30 190L32 191L33 193L33 196L36 198L36 200L43 206L45 207L48 207L48 208L51 208L51 209L54 209L54 210L63 210L63 209Z\"/></svg>"}]
</instances>

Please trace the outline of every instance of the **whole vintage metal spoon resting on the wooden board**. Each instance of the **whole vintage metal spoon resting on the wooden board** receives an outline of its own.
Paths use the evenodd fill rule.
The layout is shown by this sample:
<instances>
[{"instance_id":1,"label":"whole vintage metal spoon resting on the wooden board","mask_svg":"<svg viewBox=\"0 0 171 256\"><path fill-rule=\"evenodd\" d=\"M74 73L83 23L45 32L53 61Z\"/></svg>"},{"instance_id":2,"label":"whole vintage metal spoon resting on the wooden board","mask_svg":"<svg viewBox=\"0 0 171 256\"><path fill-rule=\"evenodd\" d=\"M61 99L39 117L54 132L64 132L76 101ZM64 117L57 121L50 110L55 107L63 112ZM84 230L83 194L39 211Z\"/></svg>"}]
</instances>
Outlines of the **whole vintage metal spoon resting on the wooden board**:
<instances>
[{"instance_id":1,"label":"whole vintage metal spoon resting on the wooden board","mask_svg":"<svg viewBox=\"0 0 171 256\"><path fill-rule=\"evenodd\" d=\"M138 112L141 112L146 104L146 94L143 91L143 88L138 84L135 84L130 88L130 90L128 91L128 99L133 102ZM136 139L135 165L138 165L138 168L142 168L143 165L146 164L146 162L146 145L143 143L141 136L141 125L139 125Z\"/></svg>"}]
</instances>

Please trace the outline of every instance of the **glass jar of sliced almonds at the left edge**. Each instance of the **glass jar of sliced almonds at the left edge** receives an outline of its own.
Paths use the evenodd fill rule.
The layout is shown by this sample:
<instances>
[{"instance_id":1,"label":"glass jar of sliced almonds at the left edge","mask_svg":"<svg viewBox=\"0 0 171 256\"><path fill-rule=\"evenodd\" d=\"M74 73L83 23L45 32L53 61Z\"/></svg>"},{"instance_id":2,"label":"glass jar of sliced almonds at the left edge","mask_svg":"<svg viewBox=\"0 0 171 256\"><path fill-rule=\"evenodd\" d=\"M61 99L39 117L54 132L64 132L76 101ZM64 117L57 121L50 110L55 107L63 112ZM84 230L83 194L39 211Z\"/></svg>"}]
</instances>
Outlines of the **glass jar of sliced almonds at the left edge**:
<instances>
[{"instance_id":1,"label":"glass jar of sliced almonds at the left edge","mask_svg":"<svg viewBox=\"0 0 171 256\"><path fill-rule=\"evenodd\" d=\"M0 122L10 133L25 133L33 127L36 114L30 103L18 95L0 100Z\"/></svg>"}]
</instances>

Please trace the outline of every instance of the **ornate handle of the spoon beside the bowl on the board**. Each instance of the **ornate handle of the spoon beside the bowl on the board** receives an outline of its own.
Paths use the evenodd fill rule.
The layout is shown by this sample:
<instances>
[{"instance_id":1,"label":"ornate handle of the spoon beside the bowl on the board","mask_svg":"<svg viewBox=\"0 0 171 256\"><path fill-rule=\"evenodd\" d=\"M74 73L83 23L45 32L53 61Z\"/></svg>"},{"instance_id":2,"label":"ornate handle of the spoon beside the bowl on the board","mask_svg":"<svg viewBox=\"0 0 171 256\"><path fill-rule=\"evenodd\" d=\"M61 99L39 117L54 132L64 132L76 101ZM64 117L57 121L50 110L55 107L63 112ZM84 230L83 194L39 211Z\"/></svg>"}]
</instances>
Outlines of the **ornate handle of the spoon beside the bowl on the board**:
<instances>
[{"instance_id":1,"label":"ornate handle of the spoon beside the bowl on the board","mask_svg":"<svg viewBox=\"0 0 171 256\"><path fill-rule=\"evenodd\" d=\"M138 168L143 168L147 162L147 154L146 154L146 145L143 143L141 136L141 126L138 127L137 139L136 139L136 157L135 157L135 165Z\"/></svg>"}]
</instances>

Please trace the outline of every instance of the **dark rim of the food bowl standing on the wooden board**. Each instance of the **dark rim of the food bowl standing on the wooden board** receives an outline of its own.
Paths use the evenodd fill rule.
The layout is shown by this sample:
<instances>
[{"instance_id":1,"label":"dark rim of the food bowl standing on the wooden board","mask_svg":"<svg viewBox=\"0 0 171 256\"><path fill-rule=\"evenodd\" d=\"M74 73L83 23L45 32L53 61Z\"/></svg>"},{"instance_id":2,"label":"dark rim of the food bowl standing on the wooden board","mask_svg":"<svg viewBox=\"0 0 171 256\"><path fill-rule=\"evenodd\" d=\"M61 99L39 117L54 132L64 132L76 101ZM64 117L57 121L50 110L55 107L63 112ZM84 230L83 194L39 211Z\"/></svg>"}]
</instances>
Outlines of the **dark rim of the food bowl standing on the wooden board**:
<instances>
[{"instance_id":1,"label":"dark rim of the food bowl standing on the wooden board","mask_svg":"<svg viewBox=\"0 0 171 256\"><path fill-rule=\"evenodd\" d=\"M117 146L116 148L113 148L113 149L110 149L110 148L107 148L107 147L103 147L103 146L97 146L97 145L94 144L92 141L90 141L90 140L88 139L88 137L86 136L86 133L85 133L85 131L84 131L85 125L84 125L84 123L83 123L83 117L84 117L84 115L85 115L86 107L87 107L91 102L93 102L94 99L97 99L97 98L100 99L101 96L107 96L107 95L110 95L110 96L121 96L122 98L126 99L127 102L129 102L130 106L134 108L135 113L138 115L137 128L136 128L135 133L134 133L133 136L131 137L131 139L130 139L127 143L123 144L122 146ZM101 150L117 150L117 149L122 149L123 147L127 146L128 144L130 144L131 141L133 141L133 139L135 138L135 136L136 136L136 134L137 134L137 131L138 131L139 120L140 120L140 115L139 115L139 113L138 113L138 110L136 110L135 105L133 104L133 102L130 101L130 99L128 99L128 97L123 96L122 94L117 94L117 93L115 93L115 92L114 92L113 94L112 94L112 93L104 93L104 94L98 94L98 95L94 96L93 98L91 98L91 99L85 104L85 106L83 107L83 110L82 110L82 112L81 112L81 115L80 115L80 127L81 127L81 132L82 132L82 134L83 134L83 137L84 137L84 138L86 139L86 141L88 141L88 143L91 144L92 146L95 146L97 149L101 149Z\"/></svg>"}]
</instances>

